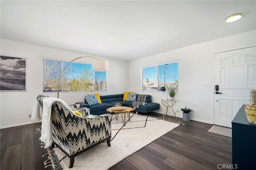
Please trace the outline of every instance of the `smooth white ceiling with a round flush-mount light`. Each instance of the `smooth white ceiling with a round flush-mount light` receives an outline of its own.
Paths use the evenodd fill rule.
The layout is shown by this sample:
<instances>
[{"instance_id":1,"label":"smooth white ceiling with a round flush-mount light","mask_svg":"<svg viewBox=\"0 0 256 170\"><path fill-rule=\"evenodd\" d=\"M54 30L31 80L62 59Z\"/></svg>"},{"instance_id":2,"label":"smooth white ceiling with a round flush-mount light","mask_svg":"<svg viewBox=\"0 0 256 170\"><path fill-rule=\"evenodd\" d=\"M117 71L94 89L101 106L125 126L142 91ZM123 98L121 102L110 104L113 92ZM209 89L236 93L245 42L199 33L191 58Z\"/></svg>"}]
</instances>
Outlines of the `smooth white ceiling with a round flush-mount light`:
<instances>
[{"instance_id":1,"label":"smooth white ceiling with a round flush-mount light","mask_svg":"<svg viewBox=\"0 0 256 170\"><path fill-rule=\"evenodd\" d=\"M2 1L1 38L134 60L256 29L256 1ZM226 23L229 15L242 18Z\"/></svg>"}]
</instances>

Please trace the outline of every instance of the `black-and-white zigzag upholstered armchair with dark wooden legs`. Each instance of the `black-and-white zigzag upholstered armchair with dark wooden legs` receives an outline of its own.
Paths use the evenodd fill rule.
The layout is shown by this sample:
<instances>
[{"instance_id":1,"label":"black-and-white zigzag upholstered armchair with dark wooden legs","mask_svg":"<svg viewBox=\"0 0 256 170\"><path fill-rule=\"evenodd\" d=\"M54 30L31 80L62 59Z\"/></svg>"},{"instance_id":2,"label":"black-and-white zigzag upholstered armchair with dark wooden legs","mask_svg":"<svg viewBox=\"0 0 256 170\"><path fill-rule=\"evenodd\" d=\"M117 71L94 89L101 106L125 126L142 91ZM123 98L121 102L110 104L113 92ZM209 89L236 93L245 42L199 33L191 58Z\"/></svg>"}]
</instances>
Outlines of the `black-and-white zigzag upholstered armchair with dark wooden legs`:
<instances>
[{"instance_id":1,"label":"black-and-white zigzag upholstered armchair with dark wooden legs","mask_svg":"<svg viewBox=\"0 0 256 170\"><path fill-rule=\"evenodd\" d=\"M45 94L39 94L37 100L42 108ZM79 117L68 105L52 103L52 148L57 145L69 158L69 168L73 167L74 157L106 141L110 147L112 115L87 115Z\"/></svg>"}]
</instances>

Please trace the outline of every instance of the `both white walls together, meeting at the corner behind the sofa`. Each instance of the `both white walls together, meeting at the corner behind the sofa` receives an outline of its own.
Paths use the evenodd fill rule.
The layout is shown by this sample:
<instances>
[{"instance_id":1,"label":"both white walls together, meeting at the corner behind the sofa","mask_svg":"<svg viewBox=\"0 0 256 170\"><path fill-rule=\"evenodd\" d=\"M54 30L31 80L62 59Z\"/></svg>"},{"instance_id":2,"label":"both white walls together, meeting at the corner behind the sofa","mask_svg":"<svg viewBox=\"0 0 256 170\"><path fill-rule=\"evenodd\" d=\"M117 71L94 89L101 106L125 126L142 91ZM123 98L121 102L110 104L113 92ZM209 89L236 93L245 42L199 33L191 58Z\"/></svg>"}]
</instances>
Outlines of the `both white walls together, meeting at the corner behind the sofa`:
<instances>
[{"instance_id":1,"label":"both white walls together, meeting at the corner behind the sofa","mask_svg":"<svg viewBox=\"0 0 256 170\"><path fill-rule=\"evenodd\" d=\"M165 108L161 105L161 99L166 98L166 92L142 92L140 90L140 69L144 66L166 64L178 60L180 91L176 94L178 101L174 109L190 107L194 109L192 119L214 123L214 53L250 45L256 45L256 30L130 62L94 56L109 62L108 91L100 92L100 95L119 94L124 91L150 94L152 102L160 103L160 110L157 112L164 113ZM28 113L32 112L36 95L42 92L42 58L71 61L76 57L86 56L82 53L6 39L1 39L1 55L26 58L28 65L26 92L0 92L0 128L30 123ZM89 58L84 59L90 62ZM210 83L211 87L203 87L205 82ZM67 104L73 104L84 101L84 94L86 93L65 92L60 93L60 98ZM49 95L56 97L57 93L49 93ZM181 111L176 114L182 117Z\"/></svg>"}]
</instances>

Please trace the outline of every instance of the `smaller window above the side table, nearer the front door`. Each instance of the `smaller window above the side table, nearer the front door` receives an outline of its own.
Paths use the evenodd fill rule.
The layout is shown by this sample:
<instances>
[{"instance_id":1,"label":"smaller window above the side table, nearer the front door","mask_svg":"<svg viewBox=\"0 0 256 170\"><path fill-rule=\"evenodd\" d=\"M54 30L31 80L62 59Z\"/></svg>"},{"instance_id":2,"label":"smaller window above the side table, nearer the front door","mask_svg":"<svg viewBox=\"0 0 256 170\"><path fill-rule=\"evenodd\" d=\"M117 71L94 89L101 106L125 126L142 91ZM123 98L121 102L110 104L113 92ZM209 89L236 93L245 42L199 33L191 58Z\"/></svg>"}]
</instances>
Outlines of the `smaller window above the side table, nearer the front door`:
<instances>
[{"instance_id":1,"label":"smaller window above the side table, nearer the front door","mask_svg":"<svg viewBox=\"0 0 256 170\"><path fill-rule=\"evenodd\" d=\"M178 91L178 62L142 68L142 91L160 91L165 84Z\"/></svg>"}]
</instances>

